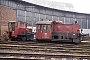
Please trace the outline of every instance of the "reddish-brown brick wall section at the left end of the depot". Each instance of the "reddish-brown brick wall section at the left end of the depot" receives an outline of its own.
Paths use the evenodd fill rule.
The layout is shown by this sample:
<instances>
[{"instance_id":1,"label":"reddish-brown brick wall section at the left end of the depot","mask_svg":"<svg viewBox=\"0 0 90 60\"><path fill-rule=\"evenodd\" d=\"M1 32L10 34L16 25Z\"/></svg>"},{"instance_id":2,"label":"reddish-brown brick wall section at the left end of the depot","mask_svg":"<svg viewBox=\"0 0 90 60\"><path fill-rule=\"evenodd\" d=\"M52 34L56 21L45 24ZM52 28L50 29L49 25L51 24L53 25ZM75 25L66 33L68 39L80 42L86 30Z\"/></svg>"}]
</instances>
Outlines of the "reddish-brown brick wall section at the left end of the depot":
<instances>
[{"instance_id":1,"label":"reddish-brown brick wall section at the left end of the depot","mask_svg":"<svg viewBox=\"0 0 90 60\"><path fill-rule=\"evenodd\" d=\"M8 26L8 21L15 21L15 20L16 20L16 10L0 6L0 35L2 33L1 26Z\"/></svg>"}]
</instances>

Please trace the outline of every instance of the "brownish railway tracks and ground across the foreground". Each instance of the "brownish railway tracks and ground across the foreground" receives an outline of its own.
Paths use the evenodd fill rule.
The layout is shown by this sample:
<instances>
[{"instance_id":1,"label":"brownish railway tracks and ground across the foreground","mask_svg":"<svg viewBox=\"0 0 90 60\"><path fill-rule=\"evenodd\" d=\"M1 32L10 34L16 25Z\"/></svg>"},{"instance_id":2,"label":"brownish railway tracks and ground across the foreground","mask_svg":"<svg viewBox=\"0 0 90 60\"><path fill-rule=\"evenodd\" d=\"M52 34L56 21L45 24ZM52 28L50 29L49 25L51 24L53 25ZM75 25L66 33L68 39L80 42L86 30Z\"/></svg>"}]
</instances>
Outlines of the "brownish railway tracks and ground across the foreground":
<instances>
[{"instance_id":1,"label":"brownish railway tracks and ground across the foreground","mask_svg":"<svg viewBox=\"0 0 90 60\"><path fill-rule=\"evenodd\" d=\"M3 41L0 42L0 58L33 60L90 60L90 42L68 44Z\"/></svg>"}]
</instances>

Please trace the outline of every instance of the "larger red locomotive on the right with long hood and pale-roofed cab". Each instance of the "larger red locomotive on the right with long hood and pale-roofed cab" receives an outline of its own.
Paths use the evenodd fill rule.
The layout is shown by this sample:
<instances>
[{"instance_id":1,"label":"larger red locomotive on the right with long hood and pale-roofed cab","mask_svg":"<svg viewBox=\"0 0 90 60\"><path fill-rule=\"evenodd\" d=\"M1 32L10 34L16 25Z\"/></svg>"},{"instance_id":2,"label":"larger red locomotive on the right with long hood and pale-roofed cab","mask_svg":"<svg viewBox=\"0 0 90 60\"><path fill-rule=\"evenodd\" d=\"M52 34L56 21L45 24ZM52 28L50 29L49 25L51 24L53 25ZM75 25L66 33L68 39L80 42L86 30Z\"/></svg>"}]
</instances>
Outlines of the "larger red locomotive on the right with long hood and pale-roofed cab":
<instances>
[{"instance_id":1,"label":"larger red locomotive on the right with long hood and pale-roofed cab","mask_svg":"<svg viewBox=\"0 0 90 60\"><path fill-rule=\"evenodd\" d=\"M61 21L39 21L36 23L37 41L68 40L74 43L81 42L79 24L63 24Z\"/></svg>"}]
</instances>

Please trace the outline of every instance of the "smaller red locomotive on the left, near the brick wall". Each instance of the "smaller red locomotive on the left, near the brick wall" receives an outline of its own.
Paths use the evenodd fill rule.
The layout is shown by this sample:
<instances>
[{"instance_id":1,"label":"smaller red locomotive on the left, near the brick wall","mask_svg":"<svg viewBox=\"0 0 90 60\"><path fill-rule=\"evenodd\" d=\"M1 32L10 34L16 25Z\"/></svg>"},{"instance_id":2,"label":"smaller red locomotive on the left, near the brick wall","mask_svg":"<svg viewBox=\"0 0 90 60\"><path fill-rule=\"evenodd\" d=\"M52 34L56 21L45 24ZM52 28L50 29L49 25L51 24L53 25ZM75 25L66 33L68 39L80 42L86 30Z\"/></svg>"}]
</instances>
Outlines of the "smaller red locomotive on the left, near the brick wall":
<instances>
[{"instance_id":1,"label":"smaller red locomotive on the left, near the brick wall","mask_svg":"<svg viewBox=\"0 0 90 60\"><path fill-rule=\"evenodd\" d=\"M21 39L21 40L29 40L33 38L32 29L27 28L26 22L21 21L9 21L8 22L8 32L10 39Z\"/></svg>"}]
</instances>

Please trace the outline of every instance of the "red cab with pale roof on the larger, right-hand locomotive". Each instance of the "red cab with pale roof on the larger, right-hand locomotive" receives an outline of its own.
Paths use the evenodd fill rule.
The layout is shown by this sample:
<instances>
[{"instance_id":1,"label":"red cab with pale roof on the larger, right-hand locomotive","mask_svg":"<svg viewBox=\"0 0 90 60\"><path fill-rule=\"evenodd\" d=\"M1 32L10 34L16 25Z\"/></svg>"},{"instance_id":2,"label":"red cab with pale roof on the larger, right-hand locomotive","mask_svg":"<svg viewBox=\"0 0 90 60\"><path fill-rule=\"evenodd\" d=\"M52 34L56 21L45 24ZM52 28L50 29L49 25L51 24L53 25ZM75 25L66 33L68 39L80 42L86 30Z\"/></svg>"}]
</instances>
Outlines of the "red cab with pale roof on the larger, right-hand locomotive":
<instances>
[{"instance_id":1,"label":"red cab with pale roof on the larger, right-hand locomotive","mask_svg":"<svg viewBox=\"0 0 90 60\"><path fill-rule=\"evenodd\" d=\"M39 21L36 23L36 40L51 40L51 21Z\"/></svg>"}]
</instances>

